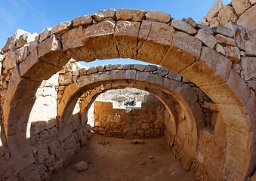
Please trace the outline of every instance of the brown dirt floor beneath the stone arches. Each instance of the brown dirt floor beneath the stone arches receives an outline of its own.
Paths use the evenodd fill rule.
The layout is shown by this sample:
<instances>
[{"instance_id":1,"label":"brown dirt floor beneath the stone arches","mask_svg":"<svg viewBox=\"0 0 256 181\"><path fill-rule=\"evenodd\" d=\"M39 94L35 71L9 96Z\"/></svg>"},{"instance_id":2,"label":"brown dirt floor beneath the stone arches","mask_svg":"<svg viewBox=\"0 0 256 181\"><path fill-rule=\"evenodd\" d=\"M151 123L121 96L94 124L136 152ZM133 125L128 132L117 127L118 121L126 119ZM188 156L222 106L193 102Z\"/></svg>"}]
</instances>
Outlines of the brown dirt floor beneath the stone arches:
<instances>
[{"instance_id":1,"label":"brown dirt floor beneath the stone arches","mask_svg":"<svg viewBox=\"0 0 256 181\"><path fill-rule=\"evenodd\" d=\"M53 181L193 181L180 161L173 158L165 138L143 140L106 138L94 134L89 145L83 147L71 164L52 175ZM88 163L88 170L78 172L73 165Z\"/></svg>"}]
</instances>

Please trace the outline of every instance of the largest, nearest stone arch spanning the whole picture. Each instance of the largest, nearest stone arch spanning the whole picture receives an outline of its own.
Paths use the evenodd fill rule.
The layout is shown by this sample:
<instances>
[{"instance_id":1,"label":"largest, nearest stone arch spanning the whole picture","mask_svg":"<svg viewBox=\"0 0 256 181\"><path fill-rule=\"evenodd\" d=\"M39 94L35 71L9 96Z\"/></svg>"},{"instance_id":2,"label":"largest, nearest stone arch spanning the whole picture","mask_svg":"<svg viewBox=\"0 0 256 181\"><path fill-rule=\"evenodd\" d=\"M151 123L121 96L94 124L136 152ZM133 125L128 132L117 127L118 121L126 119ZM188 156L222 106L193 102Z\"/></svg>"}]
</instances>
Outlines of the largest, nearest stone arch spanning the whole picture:
<instances>
[{"instance_id":1,"label":"largest, nearest stone arch spanning the whole picture","mask_svg":"<svg viewBox=\"0 0 256 181\"><path fill-rule=\"evenodd\" d=\"M171 69L205 91L227 123L227 156L222 178L245 179L256 165L252 109L256 98L232 69L232 61L215 51L214 43L206 41L206 37L216 40L212 30L171 20L168 14L159 17L154 11L108 12L103 16L78 17L54 26L51 31L46 29L22 51L22 43L17 46L14 42L5 48L3 69L11 79L3 94L3 121L16 173L33 163L29 143L19 140L20 137L26 140L26 121L35 101L35 90L43 79L62 69L71 57L85 61L132 58ZM222 30L214 33L235 39L234 35L241 33L236 26ZM246 52L246 47L239 48Z\"/></svg>"}]
</instances>

